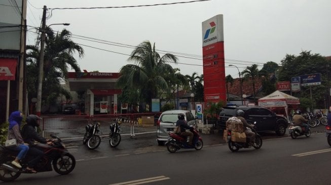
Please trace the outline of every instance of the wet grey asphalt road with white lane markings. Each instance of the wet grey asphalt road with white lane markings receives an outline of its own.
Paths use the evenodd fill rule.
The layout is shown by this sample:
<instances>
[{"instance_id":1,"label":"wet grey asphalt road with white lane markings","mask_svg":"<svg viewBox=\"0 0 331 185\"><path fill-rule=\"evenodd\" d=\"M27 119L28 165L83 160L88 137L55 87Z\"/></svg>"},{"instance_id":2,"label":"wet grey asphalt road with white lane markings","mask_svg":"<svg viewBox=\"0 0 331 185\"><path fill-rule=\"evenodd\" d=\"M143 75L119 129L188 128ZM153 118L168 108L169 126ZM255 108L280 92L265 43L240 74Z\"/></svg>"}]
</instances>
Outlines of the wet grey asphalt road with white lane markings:
<instances>
[{"instance_id":1,"label":"wet grey asphalt road with white lane markings","mask_svg":"<svg viewBox=\"0 0 331 185\"><path fill-rule=\"evenodd\" d=\"M240 149L237 153L211 136L205 136L200 151L174 154L157 146L155 140L148 140L150 146L139 146L149 143L139 137L124 138L119 148L111 148L103 140L93 151L82 144L68 145L77 159L72 173L23 174L15 184L330 184L331 148L324 133L296 140L288 136L265 138L260 150Z\"/></svg>"}]
</instances>

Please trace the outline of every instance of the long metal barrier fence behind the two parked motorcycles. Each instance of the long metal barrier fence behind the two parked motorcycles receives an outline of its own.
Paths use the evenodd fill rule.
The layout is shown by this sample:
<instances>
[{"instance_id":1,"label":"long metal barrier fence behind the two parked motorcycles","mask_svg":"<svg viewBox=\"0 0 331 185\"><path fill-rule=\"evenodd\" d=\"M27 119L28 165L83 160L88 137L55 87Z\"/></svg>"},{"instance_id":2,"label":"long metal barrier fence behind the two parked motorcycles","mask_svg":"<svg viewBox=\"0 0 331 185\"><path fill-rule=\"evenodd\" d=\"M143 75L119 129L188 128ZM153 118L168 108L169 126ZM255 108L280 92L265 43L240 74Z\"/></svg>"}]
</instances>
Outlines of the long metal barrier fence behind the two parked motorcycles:
<instances>
[{"instance_id":1,"label":"long metal barrier fence behind the two parked motorcycles","mask_svg":"<svg viewBox=\"0 0 331 185\"><path fill-rule=\"evenodd\" d=\"M109 136L109 125L113 120L122 121L121 134L135 136L135 134L153 133L157 130L157 119L161 115L158 113L140 113L140 114L107 114L107 115L61 115L61 116L42 116L41 129L43 136L51 138L50 134L57 135L62 140L79 140L85 134L85 125L91 118L100 122L100 136ZM153 116L154 124L138 123L141 116Z\"/></svg>"}]
</instances>

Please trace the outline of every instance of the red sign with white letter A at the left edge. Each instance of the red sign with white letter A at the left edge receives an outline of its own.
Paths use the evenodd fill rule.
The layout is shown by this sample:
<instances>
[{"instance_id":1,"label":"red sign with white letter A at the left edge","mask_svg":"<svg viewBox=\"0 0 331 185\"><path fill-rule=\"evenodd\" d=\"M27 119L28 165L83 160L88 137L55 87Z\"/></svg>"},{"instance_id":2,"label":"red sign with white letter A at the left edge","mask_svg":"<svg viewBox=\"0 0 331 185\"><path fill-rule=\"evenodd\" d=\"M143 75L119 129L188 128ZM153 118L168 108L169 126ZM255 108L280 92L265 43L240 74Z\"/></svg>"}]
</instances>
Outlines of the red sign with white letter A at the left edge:
<instances>
[{"instance_id":1,"label":"red sign with white letter A at the left edge","mask_svg":"<svg viewBox=\"0 0 331 185\"><path fill-rule=\"evenodd\" d=\"M15 80L17 58L0 58L0 80Z\"/></svg>"}]
</instances>

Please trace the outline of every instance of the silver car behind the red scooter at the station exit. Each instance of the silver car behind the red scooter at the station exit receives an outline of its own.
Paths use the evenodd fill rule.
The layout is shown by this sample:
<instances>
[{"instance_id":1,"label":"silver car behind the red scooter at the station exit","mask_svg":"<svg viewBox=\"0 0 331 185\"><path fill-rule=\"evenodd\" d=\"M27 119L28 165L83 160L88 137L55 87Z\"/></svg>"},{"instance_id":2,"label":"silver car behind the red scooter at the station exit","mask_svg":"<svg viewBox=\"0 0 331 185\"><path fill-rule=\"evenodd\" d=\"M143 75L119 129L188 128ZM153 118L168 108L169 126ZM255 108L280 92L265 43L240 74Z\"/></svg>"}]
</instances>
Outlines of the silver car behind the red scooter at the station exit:
<instances>
[{"instance_id":1,"label":"silver car behind the red scooter at the station exit","mask_svg":"<svg viewBox=\"0 0 331 185\"><path fill-rule=\"evenodd\" d=\"M159 145L164 145L168 140L169 132L173 131L178 120L178 114L183 114L189 125L196 126L196 119L188 110L164 111L158 120L158 129L156 131L156 140Z\"/></svg>"}]
</instances>

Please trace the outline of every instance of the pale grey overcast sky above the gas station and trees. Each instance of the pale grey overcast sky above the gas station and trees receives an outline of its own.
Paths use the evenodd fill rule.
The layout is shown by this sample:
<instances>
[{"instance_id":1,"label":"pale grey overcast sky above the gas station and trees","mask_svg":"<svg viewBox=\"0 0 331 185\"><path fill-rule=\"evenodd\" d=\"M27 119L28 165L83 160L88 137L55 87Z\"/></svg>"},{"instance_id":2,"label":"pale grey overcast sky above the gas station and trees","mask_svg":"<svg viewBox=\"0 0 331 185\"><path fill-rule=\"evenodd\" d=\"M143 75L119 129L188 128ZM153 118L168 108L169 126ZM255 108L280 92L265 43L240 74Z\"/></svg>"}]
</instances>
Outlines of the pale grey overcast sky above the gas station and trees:
<instances>
[{"instance_id":1,"label":"pale grey overcast sky above the gas station and trees","mask_svg":"<svg viewBox=\"0 0 331 185\"><path fill-rule=\"evenodd\" d=\"M27 25L41 26L44 5L49 9L93 8L189 1L28 0ZM66 28L75 37L73 41L84 44L85 57L76 58L82 70L119 72L129 64L131 46L149 40L161 55L167 51L178 56L181 64L171 65L182 74L200 75L202 22L223 14L226 75L238 77L237 69L227 66L233 64L242 71L258 64L261 69L268 61L280 64L286 54L298 56L301 51L331 56L330 10L330 0L211 0L137 8L56 9L48 11L46 24L70 23L51 27L56 31ZM36 34L29 28L27 42L34 44Z\"/></svg>"}]
</instances>

